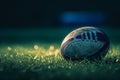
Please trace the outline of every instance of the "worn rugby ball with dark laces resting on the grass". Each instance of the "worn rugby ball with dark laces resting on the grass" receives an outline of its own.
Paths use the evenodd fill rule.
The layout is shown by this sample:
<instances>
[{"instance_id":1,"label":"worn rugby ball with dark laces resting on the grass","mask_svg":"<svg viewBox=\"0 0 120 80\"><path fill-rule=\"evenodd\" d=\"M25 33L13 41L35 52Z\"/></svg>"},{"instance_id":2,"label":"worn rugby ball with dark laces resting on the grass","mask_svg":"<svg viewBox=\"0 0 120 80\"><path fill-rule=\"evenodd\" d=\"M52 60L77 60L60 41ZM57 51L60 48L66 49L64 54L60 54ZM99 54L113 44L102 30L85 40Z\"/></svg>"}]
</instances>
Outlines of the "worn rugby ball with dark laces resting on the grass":
<instances>
[{"instance_id":1,"label":"worn rugby ball with dark laces resting on the grass","mask_svg":"<svg viewBox=\"0 0 120 80\"><path fill-rule=\"evenodd\" d=\"M110 41L100 28L86 26L70 32L61 43L61 55L66 60L102 59L108 52Z\"/></svg>"}]
</instances>

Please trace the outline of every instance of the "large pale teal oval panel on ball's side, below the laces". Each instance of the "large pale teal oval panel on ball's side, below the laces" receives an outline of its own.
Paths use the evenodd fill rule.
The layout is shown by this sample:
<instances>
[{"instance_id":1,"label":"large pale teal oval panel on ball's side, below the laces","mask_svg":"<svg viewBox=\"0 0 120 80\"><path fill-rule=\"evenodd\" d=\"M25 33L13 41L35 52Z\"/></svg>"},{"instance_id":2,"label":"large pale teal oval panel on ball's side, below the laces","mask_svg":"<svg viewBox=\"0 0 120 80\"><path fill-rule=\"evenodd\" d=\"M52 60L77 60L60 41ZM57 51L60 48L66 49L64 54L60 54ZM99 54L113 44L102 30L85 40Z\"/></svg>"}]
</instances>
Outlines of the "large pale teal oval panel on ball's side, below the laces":
<instances>
[{"instance_id":1,"label":"large pale teal oval panel on ball's side, below the laces","mask_svg":"<svg viewBox=\"0 0 120 80\"><path fill-rule=\"evenodd\" d=\"M82 56L89 57L97 51L99 51L103 47L103 43L95 42L95 41L87 41L87 40L74 40L66 43L66 47L63 49L64 56L70 56L73 58L80 58Z\"/></svg>"}]
</instances>

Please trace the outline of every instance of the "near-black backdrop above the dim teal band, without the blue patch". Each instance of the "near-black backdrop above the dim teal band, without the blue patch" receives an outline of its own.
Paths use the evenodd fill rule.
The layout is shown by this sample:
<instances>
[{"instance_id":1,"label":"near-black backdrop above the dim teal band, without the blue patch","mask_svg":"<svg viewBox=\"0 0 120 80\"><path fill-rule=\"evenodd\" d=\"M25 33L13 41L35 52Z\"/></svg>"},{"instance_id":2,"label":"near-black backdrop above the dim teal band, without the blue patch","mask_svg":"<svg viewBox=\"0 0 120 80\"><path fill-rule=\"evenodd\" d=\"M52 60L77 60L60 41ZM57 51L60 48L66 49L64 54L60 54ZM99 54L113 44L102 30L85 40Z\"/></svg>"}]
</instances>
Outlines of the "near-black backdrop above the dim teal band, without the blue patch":
<instances>
[{"instance_id":1,"label":"near-black backdrop above the dim teal band, without the blue patch","mask_svg":"<svg viewBox=\"0 0 120 80\"><path fill-rule=\"evenodd\" d=\"M104 12L107 20L102 25L119 27L119 4L119 0L2 0L0 27L57 27L65 11Z\"/></svg>"}]
</instances>

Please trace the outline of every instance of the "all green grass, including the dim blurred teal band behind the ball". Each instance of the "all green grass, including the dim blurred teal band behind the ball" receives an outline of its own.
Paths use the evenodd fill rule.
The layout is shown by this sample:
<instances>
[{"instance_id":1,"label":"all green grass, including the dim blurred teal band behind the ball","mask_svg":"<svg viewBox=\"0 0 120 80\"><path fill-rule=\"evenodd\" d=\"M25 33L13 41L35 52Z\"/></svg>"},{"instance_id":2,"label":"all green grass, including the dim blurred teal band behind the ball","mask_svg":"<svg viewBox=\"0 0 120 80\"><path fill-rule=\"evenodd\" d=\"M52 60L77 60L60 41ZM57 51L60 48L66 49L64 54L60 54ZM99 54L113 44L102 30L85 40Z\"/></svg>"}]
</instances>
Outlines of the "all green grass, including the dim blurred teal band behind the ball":
<instances>
[{"instance_id":1,"label":"all green grass, including the dim blurred teal band behind the ball","mask_svg":"<svg viewBox=\"0 0 120 80\"><path fill-rule=\"evenodd\" d=\"M3 30L0 80L119 80L120 29L105 29L111 47L102 60L74 62L63 59L59 51L61 41L72 30Z\"/></svg>"}]
</instances>

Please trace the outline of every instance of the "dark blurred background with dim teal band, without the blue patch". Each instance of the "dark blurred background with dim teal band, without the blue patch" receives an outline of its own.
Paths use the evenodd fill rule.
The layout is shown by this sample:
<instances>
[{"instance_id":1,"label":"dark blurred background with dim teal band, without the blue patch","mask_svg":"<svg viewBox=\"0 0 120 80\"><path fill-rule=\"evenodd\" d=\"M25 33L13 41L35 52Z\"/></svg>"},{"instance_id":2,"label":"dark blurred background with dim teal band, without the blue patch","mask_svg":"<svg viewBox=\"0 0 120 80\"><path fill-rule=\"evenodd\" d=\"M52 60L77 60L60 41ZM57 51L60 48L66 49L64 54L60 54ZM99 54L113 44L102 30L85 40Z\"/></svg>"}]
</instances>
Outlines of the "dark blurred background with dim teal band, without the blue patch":
<instances>
[{"instance_id":1,"label":"dark blurred background with dim teal band, without the blue patch","mask_svg":"<svg viewBox=\"0 0 120 80\"><path fill-rule=\"evenodd\" d=\"M64 24L60 21L60 16L65 12L87 12L88 14L99 12L105 14L105 20L102 23L98 22L99 24L94 22L92 24L87 22L85 24ZM69 32L81 26L106 28L105 32L108 33L110 39L118 40L119 25L119 0L0 1L0 43L29 41L59 41L61 43Z\"/></svg>"}]
</instances>

